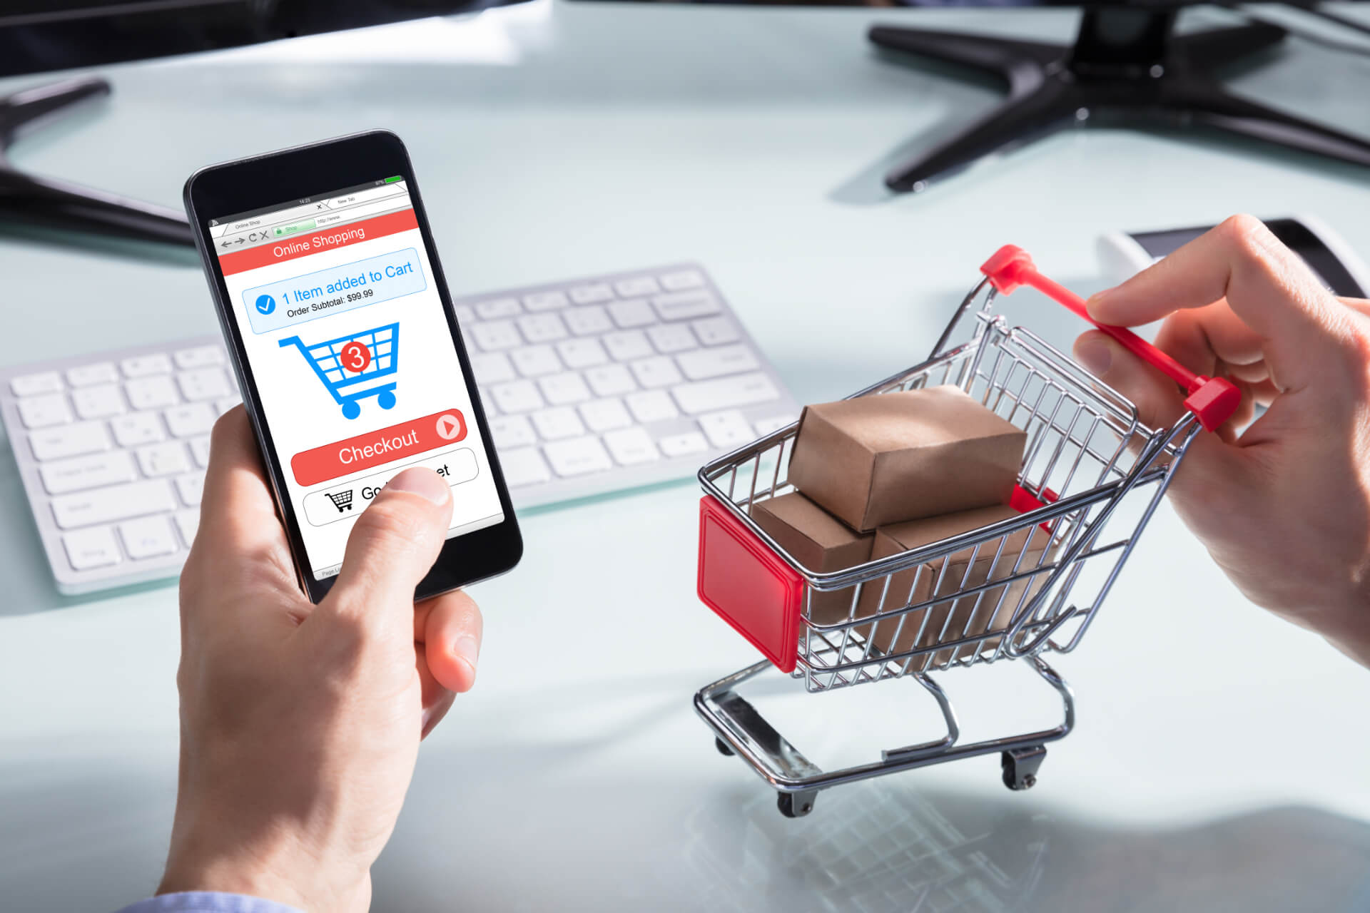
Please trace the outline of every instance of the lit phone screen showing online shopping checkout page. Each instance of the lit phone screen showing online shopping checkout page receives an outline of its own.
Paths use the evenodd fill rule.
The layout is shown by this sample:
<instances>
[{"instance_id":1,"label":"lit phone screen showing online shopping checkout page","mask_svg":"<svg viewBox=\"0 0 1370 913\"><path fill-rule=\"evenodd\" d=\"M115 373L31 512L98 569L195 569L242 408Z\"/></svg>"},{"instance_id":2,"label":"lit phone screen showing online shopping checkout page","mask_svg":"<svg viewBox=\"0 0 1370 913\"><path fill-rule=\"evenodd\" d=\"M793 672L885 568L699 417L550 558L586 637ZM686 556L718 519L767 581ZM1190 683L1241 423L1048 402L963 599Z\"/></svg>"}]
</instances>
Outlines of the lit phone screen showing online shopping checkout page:
<instances>
[{"instance_id":1,"label":"lit phone screen showing online shopping checkout page","mask_svg":"<svg viewBox=\"0 0 1370 913\"><path fill-rule=\"evenodd\" d=\"M504 522L403 177L218 215L206 231L316 580L337 575L352 522L408 467L452 486L448 538Z\"/></svg>"}]
</instances>

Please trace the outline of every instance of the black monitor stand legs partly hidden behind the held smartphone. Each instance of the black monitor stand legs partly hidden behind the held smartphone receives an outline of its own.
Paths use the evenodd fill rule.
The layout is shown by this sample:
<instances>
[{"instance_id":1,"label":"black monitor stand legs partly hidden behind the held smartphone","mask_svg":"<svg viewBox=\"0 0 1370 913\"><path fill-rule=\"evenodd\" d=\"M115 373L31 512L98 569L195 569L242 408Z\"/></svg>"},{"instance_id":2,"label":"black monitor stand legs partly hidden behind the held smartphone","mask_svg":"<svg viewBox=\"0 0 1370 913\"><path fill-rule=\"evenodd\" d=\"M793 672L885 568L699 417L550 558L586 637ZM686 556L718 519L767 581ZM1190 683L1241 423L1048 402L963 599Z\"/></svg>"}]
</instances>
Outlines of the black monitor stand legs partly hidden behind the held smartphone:
<instances>
[{"instance_id":1,"label":"black monitor stand legs partly hidden behind the held smartphone","mask_svg":"<svg viewBox=\"0 0 1370 913\"><path fill-rule=\"evenodd\" d=\"M193 246L190 226L175 209L27 175L5 159L4 151L25 127L77 101L105 94L108 82L82 77L0 97L0 219Z\"/></svg>"}]
</instances>

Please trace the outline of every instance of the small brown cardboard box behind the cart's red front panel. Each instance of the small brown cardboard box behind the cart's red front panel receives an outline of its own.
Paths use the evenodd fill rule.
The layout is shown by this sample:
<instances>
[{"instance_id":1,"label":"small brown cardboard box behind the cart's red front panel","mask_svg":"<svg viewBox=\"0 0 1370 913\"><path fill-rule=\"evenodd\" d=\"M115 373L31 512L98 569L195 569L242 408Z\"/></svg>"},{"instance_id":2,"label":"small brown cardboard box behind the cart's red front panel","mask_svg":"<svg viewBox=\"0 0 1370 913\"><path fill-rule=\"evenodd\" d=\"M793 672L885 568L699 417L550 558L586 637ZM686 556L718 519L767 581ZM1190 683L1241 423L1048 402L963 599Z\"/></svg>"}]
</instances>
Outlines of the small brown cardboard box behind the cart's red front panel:
<instances>
[{"instance_id":1,"label":"small brown cardboard box behind the cart's red front panel","mask_svg":"<svg viewBox=\"0 0 1370 913\"><path fill-rule=\"evenodd\" d=\"M758 501L751 513L756 526L815 574L845 571L870 560L874 532L854 532L797 491ZM844 621L851 604L851 589L814 593L810 617L819 624Z\"/></svg>"}]
</instances>

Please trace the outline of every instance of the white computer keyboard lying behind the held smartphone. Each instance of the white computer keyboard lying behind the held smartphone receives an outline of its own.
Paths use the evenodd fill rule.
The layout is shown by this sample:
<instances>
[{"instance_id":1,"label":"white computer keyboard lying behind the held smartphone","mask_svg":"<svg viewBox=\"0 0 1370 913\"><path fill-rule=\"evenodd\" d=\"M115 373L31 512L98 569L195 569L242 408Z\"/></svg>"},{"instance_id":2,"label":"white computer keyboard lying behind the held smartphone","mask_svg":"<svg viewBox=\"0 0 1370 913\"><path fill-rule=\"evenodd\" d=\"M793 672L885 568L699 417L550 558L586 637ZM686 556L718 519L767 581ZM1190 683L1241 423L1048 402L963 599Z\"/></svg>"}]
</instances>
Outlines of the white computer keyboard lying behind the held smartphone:
<instances>
[{"instance_id":1,"label":"white computer keyboard lying behind the held smartphone","mask_svg":"<svg viewBox=\"0 0 1370 913\"><path fill-rule=\"evenodd\" d=\"M799 417L704 270L681 264L456 301L518 506L693 475ZM214 420L218 337L0 370L0 416L58 589L174 576Z\"/></svg>"}]
</instances>

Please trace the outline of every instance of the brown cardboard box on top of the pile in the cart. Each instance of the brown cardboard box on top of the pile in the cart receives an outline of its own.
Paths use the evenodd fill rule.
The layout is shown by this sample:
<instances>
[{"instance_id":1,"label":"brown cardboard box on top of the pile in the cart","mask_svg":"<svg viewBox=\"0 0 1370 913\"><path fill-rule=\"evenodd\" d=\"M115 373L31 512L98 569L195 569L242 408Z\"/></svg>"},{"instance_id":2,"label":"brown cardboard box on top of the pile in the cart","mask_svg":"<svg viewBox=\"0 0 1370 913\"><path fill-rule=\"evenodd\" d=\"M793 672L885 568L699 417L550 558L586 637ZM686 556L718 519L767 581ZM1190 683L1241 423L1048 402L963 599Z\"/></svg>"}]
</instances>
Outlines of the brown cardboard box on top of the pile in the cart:
<instances>
[{"instance_id":1,"label":"brown cardboard box on top of the pile in the cart","mask_svg":"<svg viewBox=\"0 0 1370 913\"><path fill-rule=\"evenodd\" d=\"M1028 435L959 387L804 408L789 480L860 532L1006 504Z\"/></svg>"}]
</instances>

